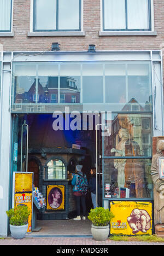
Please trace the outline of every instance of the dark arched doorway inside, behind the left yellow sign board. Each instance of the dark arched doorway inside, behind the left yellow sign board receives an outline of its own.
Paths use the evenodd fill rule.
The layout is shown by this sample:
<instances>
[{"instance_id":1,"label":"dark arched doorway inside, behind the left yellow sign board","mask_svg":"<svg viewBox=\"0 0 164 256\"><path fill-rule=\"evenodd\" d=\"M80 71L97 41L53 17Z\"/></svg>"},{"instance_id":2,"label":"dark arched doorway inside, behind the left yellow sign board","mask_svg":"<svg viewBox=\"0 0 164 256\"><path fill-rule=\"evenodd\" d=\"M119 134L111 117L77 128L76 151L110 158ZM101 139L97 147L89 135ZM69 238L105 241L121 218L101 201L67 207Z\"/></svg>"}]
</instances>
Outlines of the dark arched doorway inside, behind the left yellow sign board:
<instances>
[{"instance_id":1,"label":"dark arched doorway inside, behind the left yellow sign board","mask_svg":"<svg viewBox=\"0 0 164 256\"><path fill-rule=\"evenodd\" d=\"M39 165L36 159L30 159L28 161L28 172L33 172L34 186L39 188Z\"/></svg>"}]
</instances>

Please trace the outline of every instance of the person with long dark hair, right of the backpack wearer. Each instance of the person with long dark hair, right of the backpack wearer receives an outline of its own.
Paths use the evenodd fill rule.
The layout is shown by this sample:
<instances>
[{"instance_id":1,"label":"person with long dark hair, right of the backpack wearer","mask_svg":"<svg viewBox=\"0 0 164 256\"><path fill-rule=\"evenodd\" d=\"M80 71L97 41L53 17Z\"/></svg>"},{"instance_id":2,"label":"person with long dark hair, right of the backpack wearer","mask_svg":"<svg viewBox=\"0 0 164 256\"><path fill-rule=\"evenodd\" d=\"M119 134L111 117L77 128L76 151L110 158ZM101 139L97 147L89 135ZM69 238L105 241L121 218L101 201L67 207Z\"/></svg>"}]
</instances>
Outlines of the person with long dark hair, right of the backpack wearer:
<instances>
[{"instance_id":1,"label":"person with long dark hair, right of the backpack wearer","mask_svg":"<svg viewBox=\"0 0 164 256\"><path fill-rule=\"evenodd\" d=\"M96 208L96 168L93 167L90 170L91 178L89 181L89 190L91 192L93 208Z\"/></svg>"}]
</instances>

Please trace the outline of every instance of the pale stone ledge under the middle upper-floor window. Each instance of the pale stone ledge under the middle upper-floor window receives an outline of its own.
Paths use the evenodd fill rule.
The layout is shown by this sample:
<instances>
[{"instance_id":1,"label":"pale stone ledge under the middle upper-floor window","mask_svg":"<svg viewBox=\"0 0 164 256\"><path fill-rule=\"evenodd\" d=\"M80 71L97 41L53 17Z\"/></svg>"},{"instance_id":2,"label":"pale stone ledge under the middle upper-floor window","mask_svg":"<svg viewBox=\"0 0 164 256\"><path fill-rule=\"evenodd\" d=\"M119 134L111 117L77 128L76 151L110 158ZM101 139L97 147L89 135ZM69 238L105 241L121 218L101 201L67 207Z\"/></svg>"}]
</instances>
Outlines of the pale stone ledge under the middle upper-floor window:
<instances>
[{"instance_id":1,"label":"pale stone ledge under the middle upper-floor window","mask_svg":"<svg viewBox=\"0 0 164 256\"><path fill-rule=\"evenodd\" d=\"M75 37L85 36L85 31L28 32L28 37Z\"/></svg>"}]
</instances>

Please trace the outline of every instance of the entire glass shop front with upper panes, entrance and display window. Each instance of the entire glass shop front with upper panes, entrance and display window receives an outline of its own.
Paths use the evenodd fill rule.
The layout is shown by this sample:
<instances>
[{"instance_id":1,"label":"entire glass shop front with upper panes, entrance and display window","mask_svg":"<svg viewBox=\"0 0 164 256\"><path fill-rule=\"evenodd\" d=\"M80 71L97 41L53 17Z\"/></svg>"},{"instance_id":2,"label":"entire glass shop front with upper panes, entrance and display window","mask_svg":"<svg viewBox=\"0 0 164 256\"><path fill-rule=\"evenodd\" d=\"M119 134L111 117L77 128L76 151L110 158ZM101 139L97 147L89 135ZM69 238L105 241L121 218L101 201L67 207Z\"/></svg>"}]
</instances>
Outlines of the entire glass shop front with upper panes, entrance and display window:
<instances>
[{"instance_id":1,"label":"entire glass shop front with upper panes, entrance and display window","mask_svg":"<svg viewBox=\"0 0 164 256\"><path fill-rule=\"evenodd\" d=\"M80 113L80 129L67 129L66 107L72 118L69 124L72 111ZM12 170L34 173L34 187L46 201L37 211L38 219L75 216L71 173L82 164L89 181L90 168L96 166L96 142L98 205L112 209L120 202L134 201L138 206L153 201L149 61L13 62L11 109ZM96 118L92 129L88 129L88 119L83 129L83 111L91 109L111 112L110 120L104 120L110 126L108 136L99 130L96 138ZM54 130L56 110L63 113L63 130ZM59 194L56 206L52 204L54 191ZM86 203L89 212L93 207L90 192Z\"/></svg>"}]
</instances>

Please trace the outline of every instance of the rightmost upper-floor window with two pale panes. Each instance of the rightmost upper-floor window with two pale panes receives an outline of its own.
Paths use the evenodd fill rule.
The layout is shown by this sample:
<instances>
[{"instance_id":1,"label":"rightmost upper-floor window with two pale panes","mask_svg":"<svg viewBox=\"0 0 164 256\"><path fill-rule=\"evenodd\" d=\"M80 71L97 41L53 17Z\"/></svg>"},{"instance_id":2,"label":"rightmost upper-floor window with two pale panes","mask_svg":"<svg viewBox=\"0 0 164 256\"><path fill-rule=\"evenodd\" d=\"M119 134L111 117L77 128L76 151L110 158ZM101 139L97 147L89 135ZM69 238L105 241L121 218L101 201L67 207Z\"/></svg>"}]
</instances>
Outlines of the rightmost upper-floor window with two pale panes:
<instances>
[{"instance_id":1,"label":"rightmost upper-floor window with two pale panes","mask_svg":"<svg viewBox=\"0 0 164 256\"><path fill-rule=\"evenodd\" d=\"M151 30L151 0L103 0L103 31Z\"/></svg>"}]
</instances>

